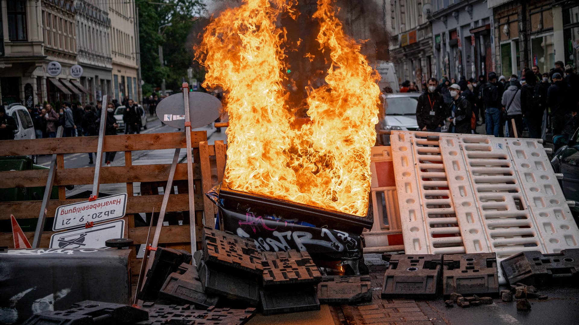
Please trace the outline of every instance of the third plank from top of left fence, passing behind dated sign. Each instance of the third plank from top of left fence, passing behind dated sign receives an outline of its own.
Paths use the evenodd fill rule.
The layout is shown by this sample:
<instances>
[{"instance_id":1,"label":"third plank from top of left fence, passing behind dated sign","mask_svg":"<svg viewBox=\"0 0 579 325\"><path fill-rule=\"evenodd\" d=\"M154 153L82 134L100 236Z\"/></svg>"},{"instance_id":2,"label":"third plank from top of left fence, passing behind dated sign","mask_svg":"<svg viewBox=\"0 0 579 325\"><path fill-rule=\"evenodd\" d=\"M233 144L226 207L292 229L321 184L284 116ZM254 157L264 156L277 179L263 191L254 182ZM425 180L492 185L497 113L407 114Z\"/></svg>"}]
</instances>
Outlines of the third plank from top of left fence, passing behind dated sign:
<instances>
[{"instance_id":1,"label":"third plank from top of left fence, passing behind dated sign","mask_svg":"<svg viewBox=\"0 0 579 325\"><path fill-rule=\"evenodd\" d=\"M88 199L86 198L66 201L51 200L48 203L47 216L53 217L58 206L87 200ZM155 208L156 211L159 211L162 202L163 195L129 197L127 198L127 210L125 213L150 213L153 208ZM0 220L10 220L10 214L16 216L17 219L37 218L41 204L42 201L0 202L0 211L2 211L2 213L0 213ZM188 210L188 194L171 194L169 196L167 212ZM195 210L203 210L203 199L201 198L201 194L195 195Z\"/></svg>"}]
</instances>

